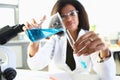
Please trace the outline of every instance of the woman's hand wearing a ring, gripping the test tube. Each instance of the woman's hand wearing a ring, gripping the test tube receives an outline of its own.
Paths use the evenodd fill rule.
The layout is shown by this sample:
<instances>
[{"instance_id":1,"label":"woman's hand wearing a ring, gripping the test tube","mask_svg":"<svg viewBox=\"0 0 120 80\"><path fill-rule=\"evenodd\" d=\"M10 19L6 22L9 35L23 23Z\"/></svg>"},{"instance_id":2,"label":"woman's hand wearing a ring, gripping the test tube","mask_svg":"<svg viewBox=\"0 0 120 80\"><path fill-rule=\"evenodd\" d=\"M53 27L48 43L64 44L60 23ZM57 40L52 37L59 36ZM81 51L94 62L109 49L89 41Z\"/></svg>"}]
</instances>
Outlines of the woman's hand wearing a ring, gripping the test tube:
<instances>
[{"instance_id":1,"label":"woman's hand wearing a ring, gripping the test tube","mask_svg":"<svg viewBox=\"0 0 120 80\"><path fill-rule=\"evenodd\" d=\"M74 53L78 56L82 54L89 55L96 51L106 53L105 55L101 55L101 57L109 55L109 43L102 39L94 31L89 31L82 35L73 45L73 49Z\"/></svg>"}]
</instances>

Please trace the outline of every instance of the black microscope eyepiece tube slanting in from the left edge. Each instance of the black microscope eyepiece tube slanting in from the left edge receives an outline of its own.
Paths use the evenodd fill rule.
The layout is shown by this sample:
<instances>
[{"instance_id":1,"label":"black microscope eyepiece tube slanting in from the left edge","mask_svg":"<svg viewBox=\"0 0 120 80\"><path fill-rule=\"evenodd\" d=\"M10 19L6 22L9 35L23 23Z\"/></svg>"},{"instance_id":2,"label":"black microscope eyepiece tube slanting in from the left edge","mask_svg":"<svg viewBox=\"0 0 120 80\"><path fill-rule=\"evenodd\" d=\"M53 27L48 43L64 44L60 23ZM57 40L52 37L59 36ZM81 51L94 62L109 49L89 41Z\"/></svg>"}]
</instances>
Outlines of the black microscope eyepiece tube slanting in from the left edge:
<instances>
[{"instance_id":1,"label":"black microscope eyepiece tube slanting in from the left edge","mask_svg":"<svg viewBox=\"0 0 120 80\"><path fill-rule=\"evenodd\" d=\"M22 27L25 26L24 24L17 24L14 26L5 26L0 29L0 45L5 44L13 37L17 36L18 33L22 32Z\"/></svg>"}]
</instances>

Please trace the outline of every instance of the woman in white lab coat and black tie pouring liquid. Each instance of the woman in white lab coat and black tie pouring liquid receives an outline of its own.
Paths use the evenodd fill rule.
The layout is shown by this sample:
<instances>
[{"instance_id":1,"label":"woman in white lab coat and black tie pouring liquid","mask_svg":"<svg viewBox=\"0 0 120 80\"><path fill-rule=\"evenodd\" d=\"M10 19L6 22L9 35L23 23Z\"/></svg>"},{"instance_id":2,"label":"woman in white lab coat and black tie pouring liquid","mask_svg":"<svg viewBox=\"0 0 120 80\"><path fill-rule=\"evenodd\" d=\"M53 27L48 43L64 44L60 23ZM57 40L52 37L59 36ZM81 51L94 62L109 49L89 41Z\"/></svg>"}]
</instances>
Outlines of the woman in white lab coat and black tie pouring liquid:
<instances>
[{"instance_id":1,"label":"woman in white lab coat and black tie pouring liquid","mask_svg":"<svg viewBox=\"0 0 120 80\"><path fill-rule=\"evenodd\" d=\"M77 0L57 0L51 15L57 12L73 37L74 44L69 46L64 33L50 37L43 47L39 46L40 42L30 42L29 67L40 70L49 64L51 71L67 71L74 74L89 73L93 68L102 80L113 80L116 70L109 45L99 35L89 31L88 16L82 4ZM45 17L42 20L44 19ZM34 19L31 24L25 24L24 30L33 26L38 26ZM66 58L71 52L75 61L72 68L67 64L69 58Z\"/></svg>"}]
</instances>

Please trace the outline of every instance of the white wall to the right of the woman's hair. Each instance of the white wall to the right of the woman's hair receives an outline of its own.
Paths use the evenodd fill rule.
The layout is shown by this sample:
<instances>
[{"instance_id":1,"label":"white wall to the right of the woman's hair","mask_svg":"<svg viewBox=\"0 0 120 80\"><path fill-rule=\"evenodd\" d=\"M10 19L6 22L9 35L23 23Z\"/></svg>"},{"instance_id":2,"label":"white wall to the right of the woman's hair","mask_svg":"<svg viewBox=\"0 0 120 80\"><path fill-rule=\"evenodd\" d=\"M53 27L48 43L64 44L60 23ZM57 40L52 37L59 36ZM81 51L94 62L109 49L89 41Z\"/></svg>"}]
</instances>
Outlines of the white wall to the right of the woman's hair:
<instances>
[{"instance_id":1,"label":"white wall to the right of the woman's hair","mask_svg":"<svg viewBox=\"0 0 120 80\"><path fill-rule=\"evenodd\" d=\"M120 31L119 0L79 0L85 6L91 25L96 25L97 32L111 33Z\"/></svg>"}]
</instances>

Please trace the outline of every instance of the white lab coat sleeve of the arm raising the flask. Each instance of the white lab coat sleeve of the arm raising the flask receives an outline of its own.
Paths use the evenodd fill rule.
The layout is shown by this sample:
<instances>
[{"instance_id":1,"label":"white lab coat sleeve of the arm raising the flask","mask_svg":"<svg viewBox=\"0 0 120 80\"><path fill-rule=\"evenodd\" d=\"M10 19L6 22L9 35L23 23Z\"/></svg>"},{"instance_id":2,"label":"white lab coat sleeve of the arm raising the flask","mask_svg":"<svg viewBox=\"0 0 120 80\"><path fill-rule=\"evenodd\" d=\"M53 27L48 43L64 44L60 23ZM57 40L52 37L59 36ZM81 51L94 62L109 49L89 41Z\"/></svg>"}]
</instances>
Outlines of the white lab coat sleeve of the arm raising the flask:
<instances>
[{"instance_id":1,"label":"white lab coat sleeve of the arm raising the flask","mask_svg":"<svg viewBox=\"0 0 120 80\"><path fill-rule=\"evenodd\" d=\"M29 56L28 47L28 59L27 63L32 70L41 70L45 68L51 61L51 54L53 53L53 40L48 40L42 47L39 46L38 52L33 56Z\"/></svg>"}]
</instances>

